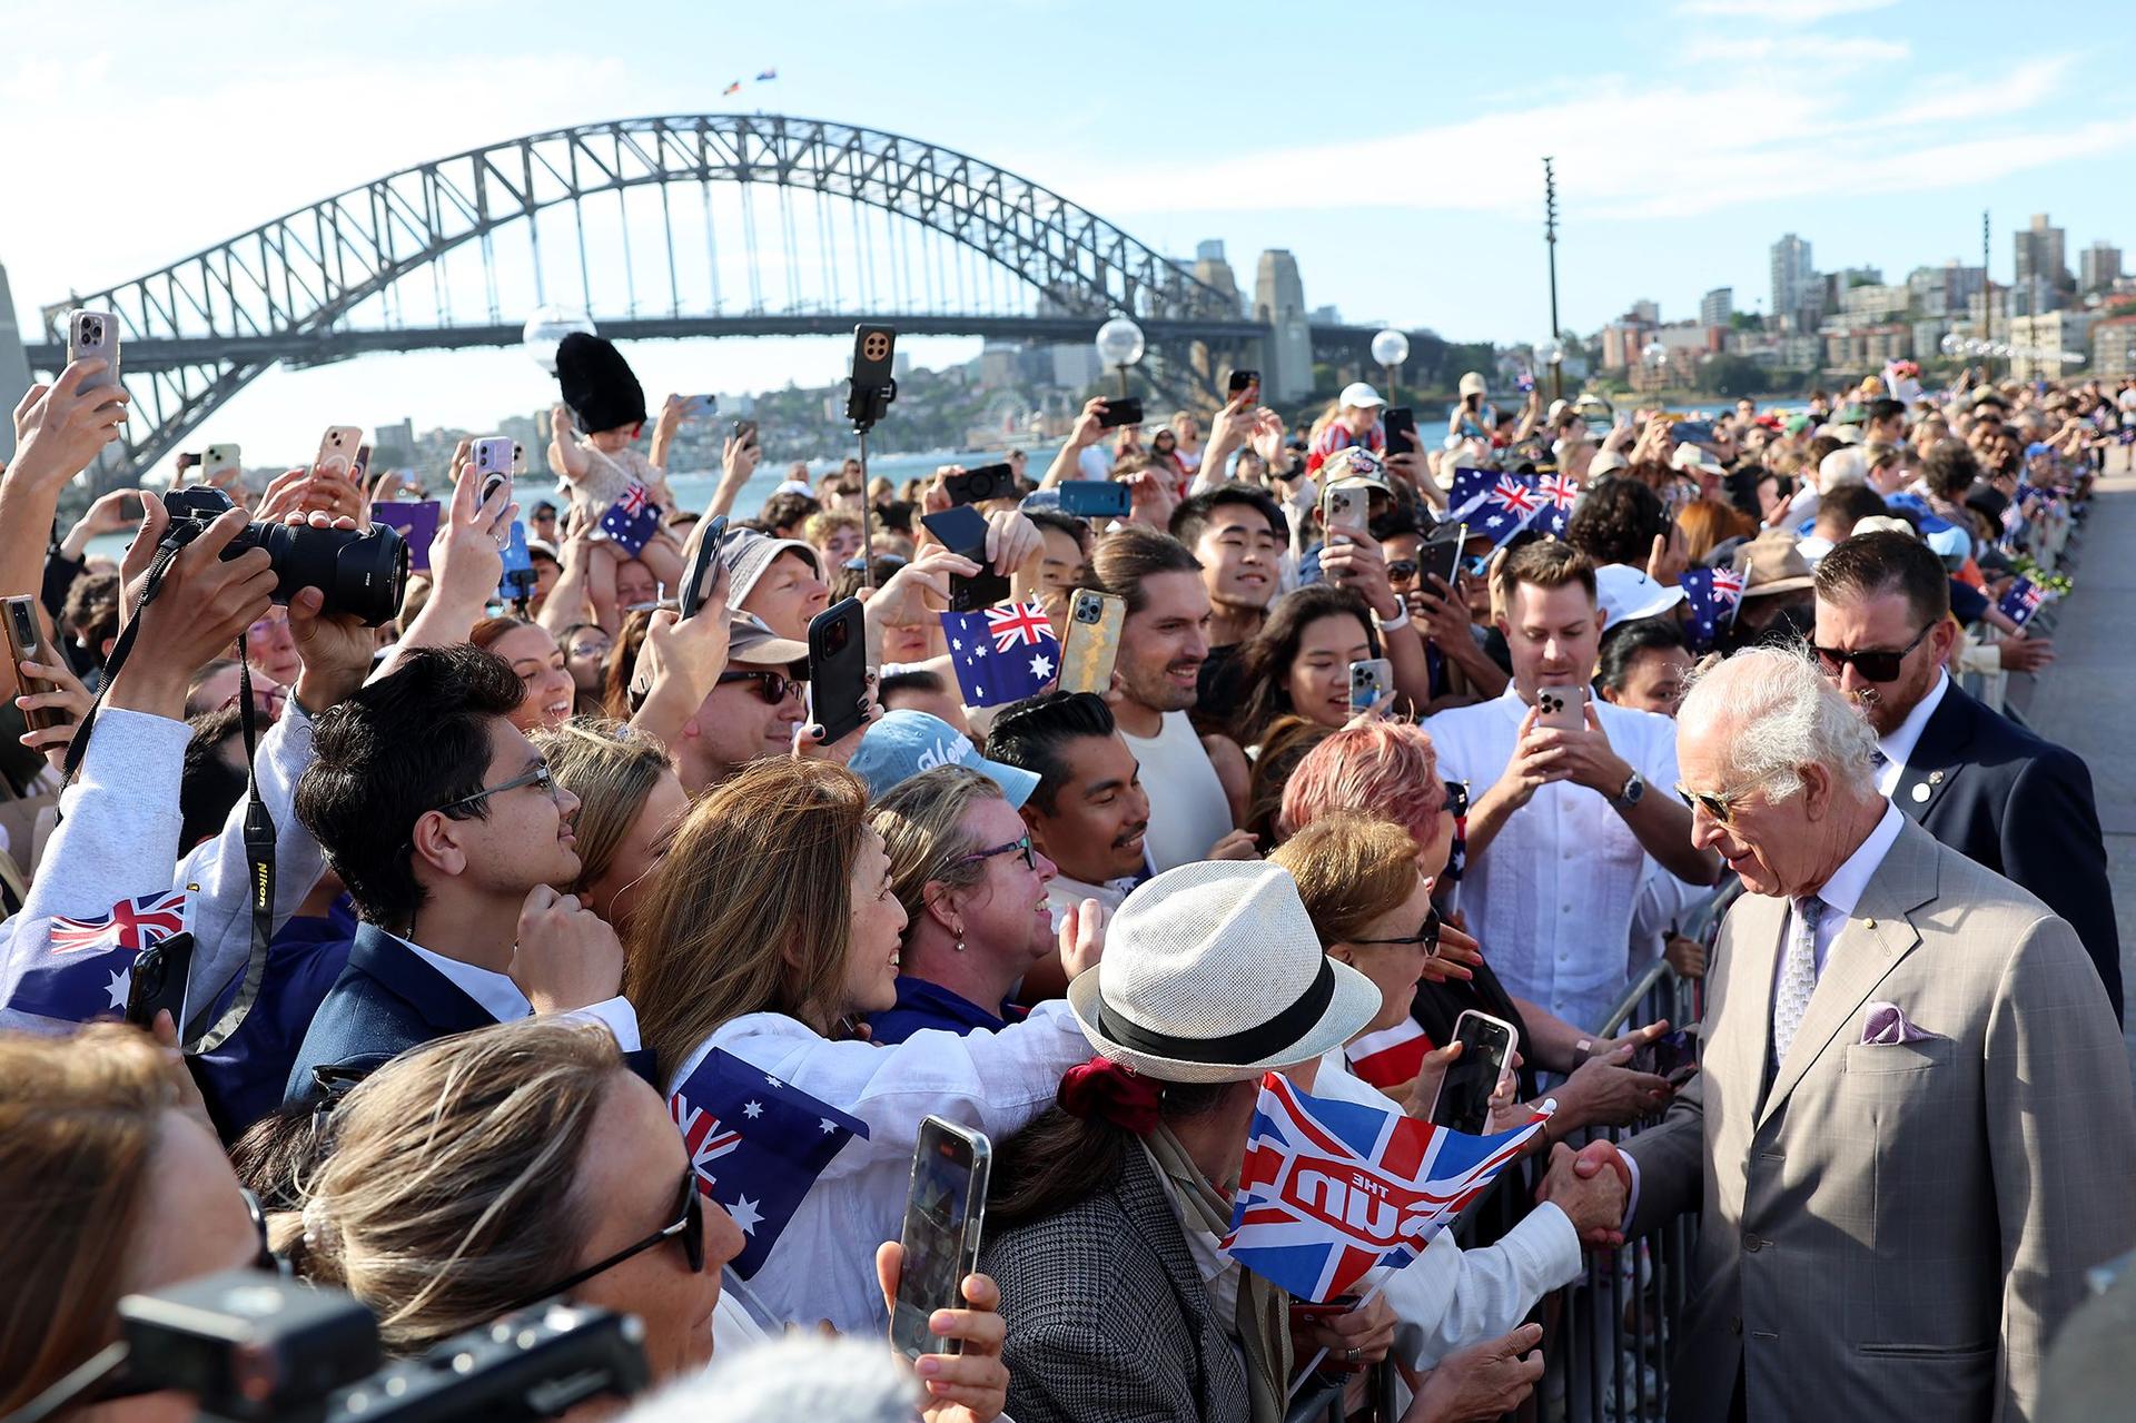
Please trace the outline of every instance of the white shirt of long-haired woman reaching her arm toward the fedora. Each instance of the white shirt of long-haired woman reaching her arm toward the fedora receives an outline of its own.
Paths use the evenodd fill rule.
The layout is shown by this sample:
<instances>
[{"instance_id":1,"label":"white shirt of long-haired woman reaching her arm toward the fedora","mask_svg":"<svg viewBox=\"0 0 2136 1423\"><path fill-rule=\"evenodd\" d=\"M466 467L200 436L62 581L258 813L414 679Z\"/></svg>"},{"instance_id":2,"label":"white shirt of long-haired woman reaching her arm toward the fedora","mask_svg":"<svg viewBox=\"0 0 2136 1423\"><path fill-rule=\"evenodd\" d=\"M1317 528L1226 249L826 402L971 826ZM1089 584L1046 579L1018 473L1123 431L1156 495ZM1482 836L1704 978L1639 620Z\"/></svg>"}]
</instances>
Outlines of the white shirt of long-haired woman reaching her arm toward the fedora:
<instances>
[{"instance_id":1,"label":"white shirt of long-haired woman reaching her arm toward the fedora","mask_svg":"<svg viewBox=\"0 0 2136 1423\"><path fill-rule=\"evenodd\" d=\"M750 1288L780 1323L831 1320L837 1333L878 1338L891 1320L876 1244L904 1226L921 1120L931 1113L1002 1143L1051 1107L1062 1073L1091 1053L1059 1000L1000 1032L929 1028L889 1047L831 1041L784 1013L745 1013L669 1070L671 1096L713 1047L867 1124L867 1137L848 1141L816 1177Z\"/></svg>"}]
</instances>

